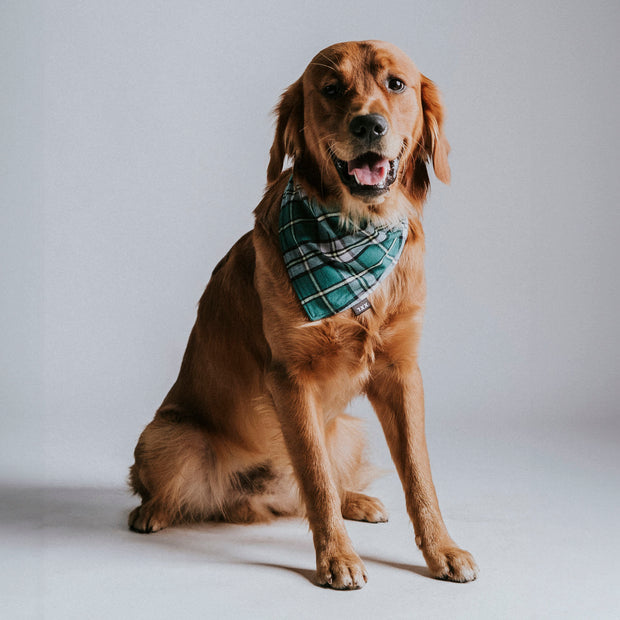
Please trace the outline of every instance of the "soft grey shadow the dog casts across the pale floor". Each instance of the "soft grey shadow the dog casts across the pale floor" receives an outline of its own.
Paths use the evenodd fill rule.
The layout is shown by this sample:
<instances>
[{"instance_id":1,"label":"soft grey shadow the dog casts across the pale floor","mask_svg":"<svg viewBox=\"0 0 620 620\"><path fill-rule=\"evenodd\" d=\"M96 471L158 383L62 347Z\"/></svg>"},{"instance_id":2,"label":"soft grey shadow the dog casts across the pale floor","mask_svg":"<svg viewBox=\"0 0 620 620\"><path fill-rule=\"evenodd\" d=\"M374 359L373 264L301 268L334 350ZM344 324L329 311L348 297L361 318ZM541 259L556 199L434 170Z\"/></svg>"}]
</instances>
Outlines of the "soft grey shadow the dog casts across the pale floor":
<instances>
[{"instance_id":1,"label":"soft grey shadow the dog casts across the pale floor","mask_svg":"<svg viewBox=\"0 0 620 620\"><path fill-rule=\"evenodd\" d=\"M43 544L118 548L145 559L168 557L187 563L261 566L293 572L314 583L314 548L307 524L281 519L270 524L201 523L174 527L154 534L127 528L127 515L136 498L120 487L0 486L0 528L19 540ZM25 539L24 539L25 540ZM290 556L303 558L307 567L291 565ZM278 559L282 561L278 561ZM430 578L425 566L365 556L366 563L410 571ZM285 561L286 560L286 561Z\"/></svg>"}]
</instances>

